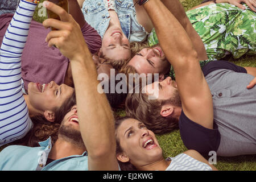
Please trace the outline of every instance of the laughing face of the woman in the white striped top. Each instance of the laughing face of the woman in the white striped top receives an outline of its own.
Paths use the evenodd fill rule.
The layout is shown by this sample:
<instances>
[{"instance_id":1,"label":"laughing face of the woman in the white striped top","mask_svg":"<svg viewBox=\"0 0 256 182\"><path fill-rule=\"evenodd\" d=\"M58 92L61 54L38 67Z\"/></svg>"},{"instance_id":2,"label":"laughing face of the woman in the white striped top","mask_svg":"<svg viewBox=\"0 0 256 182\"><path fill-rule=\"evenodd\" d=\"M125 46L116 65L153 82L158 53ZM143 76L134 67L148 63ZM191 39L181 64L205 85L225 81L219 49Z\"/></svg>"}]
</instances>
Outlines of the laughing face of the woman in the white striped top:
<instances>
[{"instance_id":1,"label":"laughing face of the woman in the white striped top","mask_svg":"<svg viewBox=\"0 0 256 182\"><path fill-rule=\"evenodd\" d=\"M163 159L162 148L155 134L136 119L123 121L116 131L116 137L123 150L122 154L136 167ZM117 154L117 158L122 161L121 155Z\"/></svg>"}]
</instances>

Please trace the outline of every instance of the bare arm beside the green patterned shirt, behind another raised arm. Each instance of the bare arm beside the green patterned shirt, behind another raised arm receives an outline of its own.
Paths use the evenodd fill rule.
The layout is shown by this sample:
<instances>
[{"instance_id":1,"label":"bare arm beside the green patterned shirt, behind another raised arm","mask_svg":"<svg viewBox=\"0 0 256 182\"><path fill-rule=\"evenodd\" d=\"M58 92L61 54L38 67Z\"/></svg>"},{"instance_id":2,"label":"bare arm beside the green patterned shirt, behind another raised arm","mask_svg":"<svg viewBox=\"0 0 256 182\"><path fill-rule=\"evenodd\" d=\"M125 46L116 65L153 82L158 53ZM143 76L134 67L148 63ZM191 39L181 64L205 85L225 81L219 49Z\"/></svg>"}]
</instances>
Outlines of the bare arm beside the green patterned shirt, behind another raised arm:
<instances>
[{"instance_id":1,"label":"bare arm beside the green patterned shirt, behind another raised arm","mask_svg":"<svg viewBox=\"0 0 256 182\"><path fill-rule=\"evenodd\" d=\"M195 28L193 28L191 22L188 19L187 14L179 0L161 0L168 10L175 16L180 22L181 26L187 32L193 47L196 49L199 60L207 60L207 53L205 51L204 43L200 36L197 34Z\"/></svg>"}]
</instances>

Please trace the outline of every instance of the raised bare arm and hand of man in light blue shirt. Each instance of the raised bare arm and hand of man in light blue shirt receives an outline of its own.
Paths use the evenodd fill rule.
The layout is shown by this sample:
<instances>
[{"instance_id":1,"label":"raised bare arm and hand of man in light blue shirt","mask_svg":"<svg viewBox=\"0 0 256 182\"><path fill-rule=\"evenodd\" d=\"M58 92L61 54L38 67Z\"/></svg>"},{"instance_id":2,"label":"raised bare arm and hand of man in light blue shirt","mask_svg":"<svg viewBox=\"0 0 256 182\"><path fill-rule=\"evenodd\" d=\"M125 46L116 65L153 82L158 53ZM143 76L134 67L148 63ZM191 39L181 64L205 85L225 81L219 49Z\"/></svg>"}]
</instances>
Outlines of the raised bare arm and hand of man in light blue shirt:
<instances>
[{"instance_id":1,"label":"raised bare arm and hand of man in light blue shirt","mask_svg":"<svg viewBox=\"0 0 256 182\"><path fill-rule=\"evenodd\" d=\"M47 19L43 25L57 28L58 31L49 32L46 40L49 46L56 45L71 60L80 131L88 151L88 168L117 170L113 113L105 94L98 93L96 68L80 27L59 6L49 3L46 7L61 19Z\"/></svg>"}]
</instances>

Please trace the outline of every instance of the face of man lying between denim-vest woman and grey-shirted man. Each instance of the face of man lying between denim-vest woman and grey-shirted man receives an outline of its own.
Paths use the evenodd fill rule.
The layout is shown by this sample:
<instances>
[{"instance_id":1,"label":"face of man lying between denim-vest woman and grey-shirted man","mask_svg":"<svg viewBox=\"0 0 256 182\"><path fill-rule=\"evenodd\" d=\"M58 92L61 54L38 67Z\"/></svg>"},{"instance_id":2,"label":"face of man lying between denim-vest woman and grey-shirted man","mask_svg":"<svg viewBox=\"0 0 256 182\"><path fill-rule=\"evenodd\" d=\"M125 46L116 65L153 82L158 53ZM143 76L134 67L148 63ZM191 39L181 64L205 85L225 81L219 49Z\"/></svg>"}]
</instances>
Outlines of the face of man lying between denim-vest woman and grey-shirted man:
<instances>
[{"instance_id":1,"label":"face of man lying between denim-vest woman and grey-shirted man","mask_svg":"<svg viewBox=\"0 0 256 182\"><path fill-rule=\"evenodd\" d=\"M128 63L134 67L137 73L163 73L169 68L166 57L160 46L143 48Z\"/></svg>"}]
</instances>

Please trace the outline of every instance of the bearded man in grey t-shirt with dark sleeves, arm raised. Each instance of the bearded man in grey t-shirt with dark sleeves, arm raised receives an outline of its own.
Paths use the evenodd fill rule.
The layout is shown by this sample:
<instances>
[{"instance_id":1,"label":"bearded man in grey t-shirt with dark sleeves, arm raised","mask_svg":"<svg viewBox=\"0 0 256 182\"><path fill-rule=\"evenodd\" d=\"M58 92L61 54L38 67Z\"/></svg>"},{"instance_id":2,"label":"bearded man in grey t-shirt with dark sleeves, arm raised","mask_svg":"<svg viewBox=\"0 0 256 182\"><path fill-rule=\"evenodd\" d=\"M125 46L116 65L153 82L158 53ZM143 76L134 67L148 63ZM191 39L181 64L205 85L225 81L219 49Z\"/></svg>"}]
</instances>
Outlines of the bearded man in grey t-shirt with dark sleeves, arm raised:
<instances>
[{"instance_id":1,"label":"bearded man in grey t-shirt with dark sleeves, arm raised","mask_svg":"<svg viewBox=\"0 0 256 182\"><path fill-rule=\"evenodd\" d=\"M179 127L185 146L201 154L256 154L256 68L212 61L202 72L197 52L175 16L160 0L143 6L176 81L167 77L144 86L143 93L129 94L127 115L158 134ZM156 51L162 55L162 50Z\"/></svg>"}]
</instances>

